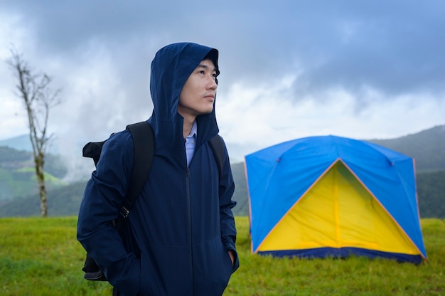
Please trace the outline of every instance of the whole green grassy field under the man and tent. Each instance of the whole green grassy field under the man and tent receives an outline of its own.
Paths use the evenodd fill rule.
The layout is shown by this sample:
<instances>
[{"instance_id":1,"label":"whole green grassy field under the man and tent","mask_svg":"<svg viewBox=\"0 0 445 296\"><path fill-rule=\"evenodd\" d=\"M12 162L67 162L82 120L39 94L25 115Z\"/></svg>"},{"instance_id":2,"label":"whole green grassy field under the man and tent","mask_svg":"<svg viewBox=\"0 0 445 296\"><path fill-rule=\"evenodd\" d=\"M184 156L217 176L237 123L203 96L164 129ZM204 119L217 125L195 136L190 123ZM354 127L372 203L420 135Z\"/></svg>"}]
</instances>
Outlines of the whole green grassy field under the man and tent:
<instances>
[{"instance_id":1,"label":"whole green grassy field under the man and tent","mask_svg":"<svg viewBox=\"0 0 445 296\"><path fill-rule=\"evenodd\" d=\"M445 295L445 221L422 220L428 261L277 259L250 254L248 221L237 217L241 267L227 295ZM0 219L0 295L111 295L83 280L76 218Z\"/></svg>"}]
</instances>

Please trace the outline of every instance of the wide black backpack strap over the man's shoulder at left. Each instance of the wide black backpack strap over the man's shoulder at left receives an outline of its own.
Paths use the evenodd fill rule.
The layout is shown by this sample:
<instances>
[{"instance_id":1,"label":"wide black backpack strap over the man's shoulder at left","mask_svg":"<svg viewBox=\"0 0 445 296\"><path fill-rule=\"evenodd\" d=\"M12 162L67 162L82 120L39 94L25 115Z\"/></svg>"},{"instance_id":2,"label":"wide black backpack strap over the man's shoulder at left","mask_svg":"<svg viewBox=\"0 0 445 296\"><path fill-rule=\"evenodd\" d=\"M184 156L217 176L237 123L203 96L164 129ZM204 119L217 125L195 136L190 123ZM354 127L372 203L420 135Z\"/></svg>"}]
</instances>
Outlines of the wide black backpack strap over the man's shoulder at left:
<instances>
[{"instance_id":1,"label":"wide black backpack strap over the man's shoulder at left","mask_svg":"<svg viewBox=\"0 0 445 296\"><path fill-rule=\"evenodd\" d=\"M154 133L149 122L144 121L127 125L127 129L133 137L134 160L129 191L120 208L121 218L127 218L129 211L133 208L134 202L149 176L154 156Z\"/></svg>"}]
</instances>

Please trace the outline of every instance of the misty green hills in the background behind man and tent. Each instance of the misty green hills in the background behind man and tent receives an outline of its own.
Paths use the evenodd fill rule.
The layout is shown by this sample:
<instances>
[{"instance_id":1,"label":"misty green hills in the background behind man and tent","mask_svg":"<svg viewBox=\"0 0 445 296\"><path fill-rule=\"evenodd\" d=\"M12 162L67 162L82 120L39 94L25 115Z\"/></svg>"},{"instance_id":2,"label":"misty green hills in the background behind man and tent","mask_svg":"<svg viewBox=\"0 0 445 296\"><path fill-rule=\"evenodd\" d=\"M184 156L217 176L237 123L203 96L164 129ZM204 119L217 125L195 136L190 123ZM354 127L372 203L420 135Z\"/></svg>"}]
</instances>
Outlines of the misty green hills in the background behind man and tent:
<instances>
[{"instance_id":1,"label":"misty green hills in the background behind man and tent","mask_svg":"<svg viewBox=\"0 0 445 296\"><path fill-rule=\"evenodd\" d=\"M370 142L416 159L420 214L422 218L445 218L445 126L398 139L374 139ZM60 178L65 176L66 167L52 155L48 156L45 169L52 184L48 190L48 215L77 215L86 180L60 186L63 185ZM232 164L232 173L235 179L233 199L237 201L235 215L247 216L249 203L244 164ZM38 216L38 204L31 153L0 147L0 217Z\"/></svg>"}]
</instances>

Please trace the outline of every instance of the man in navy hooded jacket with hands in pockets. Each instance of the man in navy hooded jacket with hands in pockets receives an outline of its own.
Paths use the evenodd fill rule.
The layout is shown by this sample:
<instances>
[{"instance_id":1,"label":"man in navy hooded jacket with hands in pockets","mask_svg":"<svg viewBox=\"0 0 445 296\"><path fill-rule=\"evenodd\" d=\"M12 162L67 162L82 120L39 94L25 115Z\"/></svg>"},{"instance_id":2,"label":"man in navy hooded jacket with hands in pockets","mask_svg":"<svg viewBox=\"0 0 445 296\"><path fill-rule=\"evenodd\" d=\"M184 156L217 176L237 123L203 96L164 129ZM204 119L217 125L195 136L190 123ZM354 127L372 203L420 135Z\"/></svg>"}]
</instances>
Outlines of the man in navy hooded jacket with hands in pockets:
<instances>
[{"instance_id":1,"label":"man in navy hooded jacket with hands in pockets","mask_svg":"<svg viewBox=\"0 0 445 296\"><path fill-rule=\"evenodd\" d=\"M133 141L118 132L102 149L80 206L77 239L119 295L222 295L238 268L227 150L220 176L218 51L174 43L151 63L153 165L124 238L112 226L132 175Z\"/></svg>"}]
</instances>

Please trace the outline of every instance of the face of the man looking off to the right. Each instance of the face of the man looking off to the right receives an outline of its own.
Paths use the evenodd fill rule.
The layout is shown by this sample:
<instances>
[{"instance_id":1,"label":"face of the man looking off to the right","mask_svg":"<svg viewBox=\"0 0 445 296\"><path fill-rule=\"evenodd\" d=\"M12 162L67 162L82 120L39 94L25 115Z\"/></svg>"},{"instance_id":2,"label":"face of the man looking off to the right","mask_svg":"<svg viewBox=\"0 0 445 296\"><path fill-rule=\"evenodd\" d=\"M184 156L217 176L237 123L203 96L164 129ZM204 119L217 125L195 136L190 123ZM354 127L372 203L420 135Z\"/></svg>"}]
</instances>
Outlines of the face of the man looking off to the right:
<instances>
[{"instance_id":1,"label":"face of the man looking off to the right","mask_svg":"<svg viewBox=\"0 0 445 296\"><path fill-rule=\"evenodd\" d=\"M203 60L193 70L179 95L178 113L190 121L213 110L216 95L216 69L211 60Z\"/></svg>"}]
</instances>

